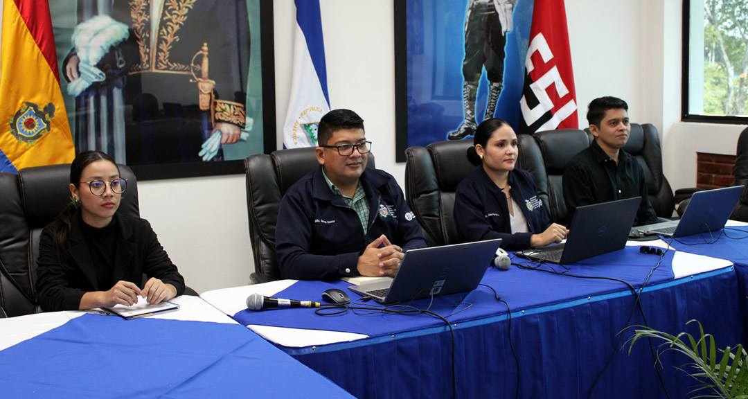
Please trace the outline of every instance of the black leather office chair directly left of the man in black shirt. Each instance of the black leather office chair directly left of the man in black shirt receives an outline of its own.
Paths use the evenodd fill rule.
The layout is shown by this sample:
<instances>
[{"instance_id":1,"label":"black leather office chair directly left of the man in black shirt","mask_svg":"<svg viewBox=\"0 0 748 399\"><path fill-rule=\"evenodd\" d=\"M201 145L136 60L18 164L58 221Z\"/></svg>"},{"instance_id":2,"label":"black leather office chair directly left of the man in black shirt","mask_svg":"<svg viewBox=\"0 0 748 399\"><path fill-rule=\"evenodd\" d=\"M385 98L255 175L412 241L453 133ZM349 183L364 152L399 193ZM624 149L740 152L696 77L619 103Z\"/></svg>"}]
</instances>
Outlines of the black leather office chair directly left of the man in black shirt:
<instances>
[{"instance_id":1,"label":"black leather office chair directly left of the man in black shirt","mask_svg":"<svg viewBox=\"0 0 748 399\"><path fill-rule=\"evenodd\" d=\"M559 129L538 132L533 135L537 141L542 161L545 166L545 181L542 176L542 168L536 167L533 173L538 192L543 204L548 206L548 213L551 216L551 222L560 225L568 225L571 222L566 201L563 199L563 172L568 162L574 158L577 153L589 147L589 138L583 130L577 129ZM527 146L524 146L527 147ZM530 151L526 151L530 152ZM521 168L524 168L527 156L524 156L521 162ZM533 163L538 159L533 156ZM537 173L537 174L536 174Z\"/></svg>"}]
</instances>

